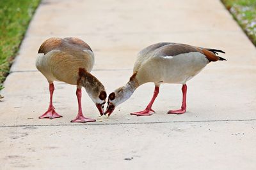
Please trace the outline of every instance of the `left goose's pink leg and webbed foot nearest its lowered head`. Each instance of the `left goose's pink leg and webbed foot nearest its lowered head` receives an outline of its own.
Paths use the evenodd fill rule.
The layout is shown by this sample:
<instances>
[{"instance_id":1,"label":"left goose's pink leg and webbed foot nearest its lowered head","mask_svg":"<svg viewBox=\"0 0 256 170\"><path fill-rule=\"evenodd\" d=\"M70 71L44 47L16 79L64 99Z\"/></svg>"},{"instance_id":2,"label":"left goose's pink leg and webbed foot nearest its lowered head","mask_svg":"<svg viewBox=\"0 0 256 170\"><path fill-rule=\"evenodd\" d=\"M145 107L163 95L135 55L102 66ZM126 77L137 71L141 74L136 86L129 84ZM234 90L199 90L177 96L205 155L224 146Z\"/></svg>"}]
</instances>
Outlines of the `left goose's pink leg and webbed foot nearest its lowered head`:
<instances>
[{"instance_id":1,"label":"left goose's pink leg and webbed foot nearest its lowered head","mask_svg":"<svg viewBox=\"0 0 256 170\"><path fill-rule=\"evenodd\" d=\"M96 121L95 119L86 118L83 115L82 105L81 105L82 89L79 89L79 88L76 89L76 96L78 101L78 113L77 113L77 117L74 120L71 120L71 122L81 122L81 123L95 122Z\"/></svg>"}]
</instances>

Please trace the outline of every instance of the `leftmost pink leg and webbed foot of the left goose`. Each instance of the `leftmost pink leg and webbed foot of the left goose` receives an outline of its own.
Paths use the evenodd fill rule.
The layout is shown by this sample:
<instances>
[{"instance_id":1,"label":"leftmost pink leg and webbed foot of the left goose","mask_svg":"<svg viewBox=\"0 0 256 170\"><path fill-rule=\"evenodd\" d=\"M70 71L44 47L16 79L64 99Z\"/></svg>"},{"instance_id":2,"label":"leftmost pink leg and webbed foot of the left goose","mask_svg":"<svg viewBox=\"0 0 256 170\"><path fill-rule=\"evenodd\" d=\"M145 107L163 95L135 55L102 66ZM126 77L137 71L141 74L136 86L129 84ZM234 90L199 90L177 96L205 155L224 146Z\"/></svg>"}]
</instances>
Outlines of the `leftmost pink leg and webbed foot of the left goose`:
<instances>
[{"instance_id":1,"label":"leftmost pink leg and webbed foot of the left goose","mask_svg":"<svg viewBox=\"0 0 256 170\"><path fill-rule=\"evenodd\" d=\"M54 110L54 106L52 105L52 95L53 95L53 91L54 91L54 85L53 83L49 84L49 90L50 90L50 104L49 104L49 108L48 110L39 118L59 118L62 117L61 115L59 115L58 113L56 113L56 111Z\"/></svg>"}]
</instances>

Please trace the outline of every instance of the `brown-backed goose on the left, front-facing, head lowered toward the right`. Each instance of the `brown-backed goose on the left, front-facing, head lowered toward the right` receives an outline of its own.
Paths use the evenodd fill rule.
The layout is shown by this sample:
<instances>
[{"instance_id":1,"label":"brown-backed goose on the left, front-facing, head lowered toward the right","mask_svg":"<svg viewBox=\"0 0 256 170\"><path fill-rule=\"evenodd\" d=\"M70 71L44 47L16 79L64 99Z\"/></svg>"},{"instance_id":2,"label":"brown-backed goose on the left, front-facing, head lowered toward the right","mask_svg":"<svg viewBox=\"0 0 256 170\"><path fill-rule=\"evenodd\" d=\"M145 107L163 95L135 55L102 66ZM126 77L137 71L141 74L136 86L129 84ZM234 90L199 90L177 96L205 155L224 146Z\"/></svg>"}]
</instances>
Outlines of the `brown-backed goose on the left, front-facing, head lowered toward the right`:
<instances>
[{"instance_id":1,"label":"brown-backed goose on the left, front-facing, head lowered toward the right","mask_svg":"<svg viewBox=\"0 0 256 170\"><path fill-rule=\"evenodd\" d=\"M52 105L53 81L63 81L77 86L78 114L71 122L95 122L94 119L83 116L81 87L85 88L96 104L100 115L103 115L107 96L102 83L90 74L93 64L92 49L79 38L49 38L44 41L38 50L36 68L44 74L49 82L50 104L48 110L39 118L62 117L56 113Z\"/></svg>"}]
</instances>

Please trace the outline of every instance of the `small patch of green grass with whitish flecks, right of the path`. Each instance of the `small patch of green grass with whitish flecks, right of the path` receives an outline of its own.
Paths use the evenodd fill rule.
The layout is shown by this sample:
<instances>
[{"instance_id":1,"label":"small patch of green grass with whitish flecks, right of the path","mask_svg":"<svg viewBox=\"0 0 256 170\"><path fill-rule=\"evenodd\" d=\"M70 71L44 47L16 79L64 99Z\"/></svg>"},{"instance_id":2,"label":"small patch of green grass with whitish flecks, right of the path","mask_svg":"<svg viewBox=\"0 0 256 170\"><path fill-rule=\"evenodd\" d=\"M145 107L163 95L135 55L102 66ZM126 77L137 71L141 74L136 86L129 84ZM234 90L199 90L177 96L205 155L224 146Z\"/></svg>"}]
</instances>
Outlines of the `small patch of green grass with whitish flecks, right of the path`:
<instances>
[{"instance_id":1,"label":"small patch of green grass with whitish flecks, right of the path","mask_svg":"<svg viewBox=\"0 0 256 170\"><path fill-rule=\"evenodd\" d=\"M256 0L221 0L256 46Z\"/></svg>"}]
</instances>

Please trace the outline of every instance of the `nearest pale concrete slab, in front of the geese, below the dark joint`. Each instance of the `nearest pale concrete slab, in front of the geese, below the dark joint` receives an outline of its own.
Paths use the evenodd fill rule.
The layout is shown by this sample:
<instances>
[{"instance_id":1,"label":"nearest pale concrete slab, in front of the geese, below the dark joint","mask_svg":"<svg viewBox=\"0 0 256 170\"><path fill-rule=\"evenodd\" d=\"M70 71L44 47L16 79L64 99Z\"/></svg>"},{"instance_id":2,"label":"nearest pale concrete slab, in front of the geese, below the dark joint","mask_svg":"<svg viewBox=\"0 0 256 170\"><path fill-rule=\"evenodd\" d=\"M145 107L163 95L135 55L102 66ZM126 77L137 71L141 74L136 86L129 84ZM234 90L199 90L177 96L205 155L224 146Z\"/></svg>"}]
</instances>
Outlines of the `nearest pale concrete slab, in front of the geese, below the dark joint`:
<instances>
[{"instance_id":1,"label":"nearest pale concrete slab, in front of the geese, below the dark joint","mask_svg":"<svg viewBox=\"0 0 256 170\"><path fill-rule=\"evenodd\" d=\"M0 169L255 169L255 125L245 121L0 128Z\"/></svg>"}]
</instances>

